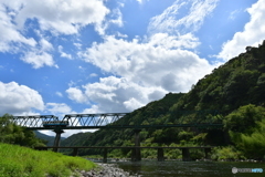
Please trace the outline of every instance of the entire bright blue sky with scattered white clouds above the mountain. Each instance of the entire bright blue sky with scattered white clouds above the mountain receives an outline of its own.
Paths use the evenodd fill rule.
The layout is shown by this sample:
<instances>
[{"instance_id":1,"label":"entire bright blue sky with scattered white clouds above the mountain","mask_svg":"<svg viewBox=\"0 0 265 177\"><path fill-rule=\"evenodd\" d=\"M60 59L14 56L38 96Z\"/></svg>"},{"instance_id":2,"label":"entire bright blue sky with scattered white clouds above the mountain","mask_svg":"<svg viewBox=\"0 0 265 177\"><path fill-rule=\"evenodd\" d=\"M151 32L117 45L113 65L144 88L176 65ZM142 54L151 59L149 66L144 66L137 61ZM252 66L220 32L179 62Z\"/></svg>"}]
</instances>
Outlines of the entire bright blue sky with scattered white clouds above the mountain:
<instances>
[{"instance_id":1,"label":"entire bright blue sky with scattered white clouds above the mountain","mask_svg":"<svg viewBox=\"0 0 265 177\"><path fill-rule=\"evenodd\" d=\"M0 115L131 112L265 40L265 0L1 0Z\"/></svg>"}]
</instances>

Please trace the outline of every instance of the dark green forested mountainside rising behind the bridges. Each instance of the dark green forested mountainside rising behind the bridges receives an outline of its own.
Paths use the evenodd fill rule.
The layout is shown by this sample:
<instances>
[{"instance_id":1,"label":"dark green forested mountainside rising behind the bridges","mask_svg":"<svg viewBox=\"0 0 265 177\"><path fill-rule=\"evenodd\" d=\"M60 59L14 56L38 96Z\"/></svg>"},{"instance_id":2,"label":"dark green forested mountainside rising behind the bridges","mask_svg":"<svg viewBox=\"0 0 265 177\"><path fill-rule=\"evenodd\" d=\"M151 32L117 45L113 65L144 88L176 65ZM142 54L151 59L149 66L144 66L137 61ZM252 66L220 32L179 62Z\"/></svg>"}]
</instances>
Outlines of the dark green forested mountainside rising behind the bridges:
<instances>
[{"instance_id":1,"label":"dark green forested mountainside rising behind the bridges","mask_svg":"<svg viewBox=\"0 0 265 177\"><path fill-rule=\"evenodd\" d=\"M265 154L265 143L258 140L265 139L264 95L265 41L258 48L247 46L245 53L214 69L193 85L189 93L169 93L162 100L134 111L129 117L130 122L140 122L142 125L221 121L224 124L221 129L141 129L141 146L231 145L233 150L246 157L259 158L258 153ZM206 112L215 110L219 111L218 115ZM178 114L188 111L204 111L206 114ZM132 129L99 129L93 134L73 135L63 140L62 145L130 146L134 144L132 135ZM80 155L98 153L97 149L83 149ZM116 149L113 154L129 156L128 150ZM144 152L145 155L148 157L150 153Z\"/></svg>"}]
</instances>

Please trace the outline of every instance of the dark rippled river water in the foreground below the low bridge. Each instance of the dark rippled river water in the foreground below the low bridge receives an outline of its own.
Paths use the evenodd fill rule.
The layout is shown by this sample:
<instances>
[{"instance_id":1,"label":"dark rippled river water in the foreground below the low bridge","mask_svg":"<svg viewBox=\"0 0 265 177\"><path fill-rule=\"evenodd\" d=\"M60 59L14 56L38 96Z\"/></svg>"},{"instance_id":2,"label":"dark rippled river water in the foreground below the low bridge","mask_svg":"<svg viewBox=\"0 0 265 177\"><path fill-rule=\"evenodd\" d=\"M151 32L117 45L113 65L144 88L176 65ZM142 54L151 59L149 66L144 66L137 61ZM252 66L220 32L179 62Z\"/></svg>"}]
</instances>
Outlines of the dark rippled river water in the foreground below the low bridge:
<instances>
[{"instance_id":1,"label":"dark rippled river water in the foreground below the low bridge","mask_svg":"<svg viewBox=\"0 0 265 177\"><path fill-rule=\"evenodd\" d=\"M265 163L245 162L179 162L141 160L110 162L130 174L141 177L262 177ZM263 173L232 173L232 168L262 168Z\"/></svg>"}]
</instances>

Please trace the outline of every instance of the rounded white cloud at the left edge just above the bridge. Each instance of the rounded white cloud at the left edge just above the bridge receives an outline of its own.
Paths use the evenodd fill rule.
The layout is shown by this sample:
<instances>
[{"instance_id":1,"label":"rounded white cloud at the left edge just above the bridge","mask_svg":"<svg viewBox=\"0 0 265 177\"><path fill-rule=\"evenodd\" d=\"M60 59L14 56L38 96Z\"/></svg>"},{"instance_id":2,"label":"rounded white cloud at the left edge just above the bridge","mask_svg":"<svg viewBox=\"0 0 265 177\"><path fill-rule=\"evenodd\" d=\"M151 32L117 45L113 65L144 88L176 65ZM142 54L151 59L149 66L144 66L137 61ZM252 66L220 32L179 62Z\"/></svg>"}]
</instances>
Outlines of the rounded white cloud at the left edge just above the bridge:
<instances>
[{"instance_id":1,"label":"rounded white cloud at the left edge just above the bridge","mask_svg":"<svg viewBox=\"0 0 265 177\"><path fill-rule=\"evenodd\" d=\"M36 91L15 82L0 82L0 114L24 115L44 110L42 96Z\"/></svg>"}]
</instances>

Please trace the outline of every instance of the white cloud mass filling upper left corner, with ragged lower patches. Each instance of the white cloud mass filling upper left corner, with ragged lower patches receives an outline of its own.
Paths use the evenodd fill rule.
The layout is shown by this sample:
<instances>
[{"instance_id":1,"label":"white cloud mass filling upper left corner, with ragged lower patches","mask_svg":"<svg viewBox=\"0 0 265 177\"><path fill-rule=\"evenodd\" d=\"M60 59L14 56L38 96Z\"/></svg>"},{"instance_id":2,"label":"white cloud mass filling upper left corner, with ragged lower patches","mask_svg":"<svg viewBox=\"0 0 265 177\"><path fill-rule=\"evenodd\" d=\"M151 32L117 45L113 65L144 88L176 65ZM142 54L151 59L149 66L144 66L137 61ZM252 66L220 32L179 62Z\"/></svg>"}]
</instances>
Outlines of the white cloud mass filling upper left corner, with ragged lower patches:
<instances>
[{"instance_id":1,"label":"white cloud mass filling upper left corner, with ragged lower patches","mask_svg":"<svg viewBox=\"0 0 265 177\"><path fill-rule=\"evenodd\" d=\"M88 24L99 29L106 15L110 12L103 0L53 0L53 1L24 1L2 0L0 2L0 52L23 53L21 60L32 64L34 69L42 66L55 66L51 51L53 45L42 34L49 31L53 35L77 34L81 28ZM121 25L118 10L117 20L112 23ZM28 38L31 25L39 35L36 39ZM103 29L100 29L103 30ZM99 31L98 31L99 32ZM100 31L100 33L104 33ZM72 59L72 55L63 52L59 46L62 58Z\"/></svg>"}]
</instances>

